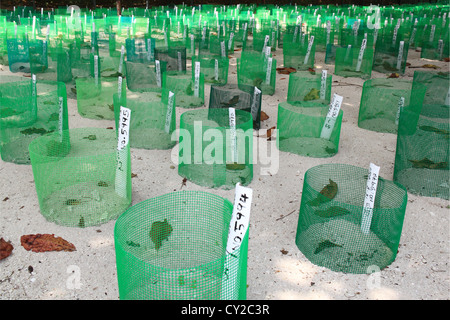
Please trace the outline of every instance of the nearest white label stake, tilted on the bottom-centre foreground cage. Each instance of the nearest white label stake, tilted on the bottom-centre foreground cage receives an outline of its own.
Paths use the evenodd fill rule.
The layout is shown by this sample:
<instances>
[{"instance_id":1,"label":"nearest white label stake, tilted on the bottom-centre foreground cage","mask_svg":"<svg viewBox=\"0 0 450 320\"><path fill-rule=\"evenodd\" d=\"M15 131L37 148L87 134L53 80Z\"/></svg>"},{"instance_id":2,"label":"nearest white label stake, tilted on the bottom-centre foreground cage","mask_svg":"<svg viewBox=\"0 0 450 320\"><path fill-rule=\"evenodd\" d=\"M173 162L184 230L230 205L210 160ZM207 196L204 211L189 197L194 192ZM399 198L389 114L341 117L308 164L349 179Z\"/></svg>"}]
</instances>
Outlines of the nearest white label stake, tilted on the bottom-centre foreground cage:
<instances>
[{"instance_id":1,"label":"nearest white label stake, tilted on the bottom-centre foreground cage","mask_svg":"<svg viewBox=\"0 0 450 320\"><path fill-rule=\"evenodd\" d=\"M226 260L224 274L222 276L221 299L237 300L237 290L229 290L237 285L239 260L243 259L241 255L235 252L240 248L242 241L247 234L250 224L250 211L252 205L253 190L236 184L234 194L233 213L231 216L230 227L228 231L228 241L226 248ZM234 292L236 296L230 296Z\"/></svg>"}]
</instances>

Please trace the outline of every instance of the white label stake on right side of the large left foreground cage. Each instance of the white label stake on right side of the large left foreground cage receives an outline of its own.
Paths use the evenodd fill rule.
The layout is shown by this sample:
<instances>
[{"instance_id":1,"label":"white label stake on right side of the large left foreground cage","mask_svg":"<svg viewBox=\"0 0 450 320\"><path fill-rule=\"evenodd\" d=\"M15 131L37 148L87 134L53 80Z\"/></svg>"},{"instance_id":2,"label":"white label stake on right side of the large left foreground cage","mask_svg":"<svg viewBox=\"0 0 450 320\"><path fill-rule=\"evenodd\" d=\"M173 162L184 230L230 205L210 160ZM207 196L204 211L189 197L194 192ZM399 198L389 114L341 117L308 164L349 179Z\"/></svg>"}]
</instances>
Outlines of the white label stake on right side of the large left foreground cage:
<instances>
[{"instance_id":1,"label":"white label stake on right side of the large left foreground cage","mask_svg":"<svg viewBox=\"0 0 450 320\"><path fill-rule=\"evenodd\" d=\"M119 137L117 140L117 167L116 167L116 193L122 198L127 197L127 174L128 174L128 145L130 136L130 116L131 110L123 106L120 107L119 115Z\"/></svg>"}]
</instances>

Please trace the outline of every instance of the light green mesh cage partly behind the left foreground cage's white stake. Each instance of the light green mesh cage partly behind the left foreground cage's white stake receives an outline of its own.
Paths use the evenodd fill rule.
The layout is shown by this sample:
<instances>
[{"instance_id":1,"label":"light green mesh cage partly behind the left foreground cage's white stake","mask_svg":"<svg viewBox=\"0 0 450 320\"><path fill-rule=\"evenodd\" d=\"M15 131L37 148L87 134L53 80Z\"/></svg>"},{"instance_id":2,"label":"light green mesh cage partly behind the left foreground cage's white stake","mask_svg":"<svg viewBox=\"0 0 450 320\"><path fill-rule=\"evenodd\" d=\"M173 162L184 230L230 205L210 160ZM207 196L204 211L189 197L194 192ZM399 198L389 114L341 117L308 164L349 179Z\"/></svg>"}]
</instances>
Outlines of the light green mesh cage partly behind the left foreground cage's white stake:
<instances>
[{"instance_id":1,"label":"light green mesh cage partly behind the left foreground cage's white stake","mask_svg":"<svg viewBox=\"0 0 450 320\"><path fill-rule=\"evenodd\" d=\"M164 97L162 97L163 95ZM175 95L169 92L128 92L114 94L116 128L120 117L120 107L131 110L130 147L139 149L170 149L176 141L172 133L176 128Z\"/></svg>"}]
</instances>

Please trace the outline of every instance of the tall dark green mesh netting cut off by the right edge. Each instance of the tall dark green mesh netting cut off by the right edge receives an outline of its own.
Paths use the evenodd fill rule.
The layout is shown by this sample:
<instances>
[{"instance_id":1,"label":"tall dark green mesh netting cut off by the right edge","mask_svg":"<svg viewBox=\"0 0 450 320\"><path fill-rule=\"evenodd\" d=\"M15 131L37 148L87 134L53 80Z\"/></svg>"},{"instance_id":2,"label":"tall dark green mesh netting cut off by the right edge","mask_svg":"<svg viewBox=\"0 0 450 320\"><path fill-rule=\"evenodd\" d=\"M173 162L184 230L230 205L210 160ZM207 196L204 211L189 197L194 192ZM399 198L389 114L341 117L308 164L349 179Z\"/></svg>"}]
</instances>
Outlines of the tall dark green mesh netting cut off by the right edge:
<instances>
[{"instance_id":1,"label":"tall dark green mesh netting cut off by the right edge","mask_svg":"<svg viewBox=\"0 0 450 320\"><path fill-rule=\"evenodd\" d=\"M413 194L449 199L450 74L415 72L413 91L421 85L422 109L400 114L394 181Z\"/></svg>"}]
</instances>

